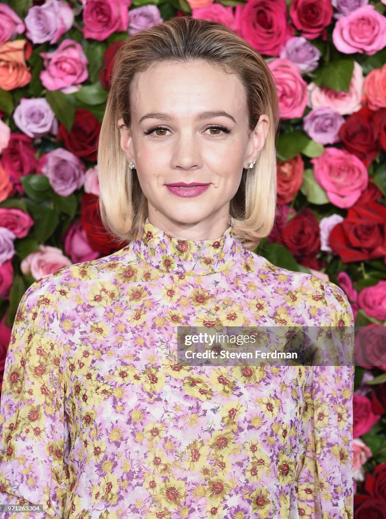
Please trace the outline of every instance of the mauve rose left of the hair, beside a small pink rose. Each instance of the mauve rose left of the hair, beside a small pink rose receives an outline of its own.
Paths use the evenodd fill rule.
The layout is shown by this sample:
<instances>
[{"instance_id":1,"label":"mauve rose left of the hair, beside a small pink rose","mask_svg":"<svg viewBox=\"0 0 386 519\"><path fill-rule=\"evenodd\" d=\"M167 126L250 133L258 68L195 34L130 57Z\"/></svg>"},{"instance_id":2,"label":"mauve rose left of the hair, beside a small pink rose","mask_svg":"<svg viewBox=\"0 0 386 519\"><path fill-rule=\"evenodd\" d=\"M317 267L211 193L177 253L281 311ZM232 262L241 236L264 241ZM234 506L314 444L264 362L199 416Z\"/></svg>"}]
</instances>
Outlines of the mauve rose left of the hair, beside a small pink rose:
<instances>
[{"instance_id":1,"label":"mauve rose left of the hair, beside a small pink rose","mask_svg":"<svg viewBox=\"0 0 386 519\"><path fill-rule=\"evenodd\" d=\"M71 152L56 148L39 159L39 170L48 177L55 193L69 196L85 181L85 165Z\"/></svg>"}]
</instances>

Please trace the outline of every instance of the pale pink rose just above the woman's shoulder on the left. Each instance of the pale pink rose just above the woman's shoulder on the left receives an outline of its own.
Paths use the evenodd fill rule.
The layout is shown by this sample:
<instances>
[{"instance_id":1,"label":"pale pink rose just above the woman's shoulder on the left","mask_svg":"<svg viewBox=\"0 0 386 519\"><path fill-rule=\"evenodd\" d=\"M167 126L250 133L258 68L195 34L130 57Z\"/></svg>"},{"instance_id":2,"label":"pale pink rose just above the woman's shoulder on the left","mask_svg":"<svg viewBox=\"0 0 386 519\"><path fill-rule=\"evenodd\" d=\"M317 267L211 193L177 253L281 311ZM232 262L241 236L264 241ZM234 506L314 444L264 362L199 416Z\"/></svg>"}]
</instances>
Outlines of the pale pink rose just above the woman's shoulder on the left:
<instances>
[{"instance_id":1,"label":"pale pink rose just above the woman's shoulder on the left","mask_svg":"<svg viewBox=\"0 0 386 519\"><path fill-rule=\"evenodd\" d=\"M71 260L64 256L60 249L49 245L40 245L40 252L31 252L22 260L20 268L23 274L31 274L38 280L70 265L72 265Z\"/></svg>"}]
</instances>

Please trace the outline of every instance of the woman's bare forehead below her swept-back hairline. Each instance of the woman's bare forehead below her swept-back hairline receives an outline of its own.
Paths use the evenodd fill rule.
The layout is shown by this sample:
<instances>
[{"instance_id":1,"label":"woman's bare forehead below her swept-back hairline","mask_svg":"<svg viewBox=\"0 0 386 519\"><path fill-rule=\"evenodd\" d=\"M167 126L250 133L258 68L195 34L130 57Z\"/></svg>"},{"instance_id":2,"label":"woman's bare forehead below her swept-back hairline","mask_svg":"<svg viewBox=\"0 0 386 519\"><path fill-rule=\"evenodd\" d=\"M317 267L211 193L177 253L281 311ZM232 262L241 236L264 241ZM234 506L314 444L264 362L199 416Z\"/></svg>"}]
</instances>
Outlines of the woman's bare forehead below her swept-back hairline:
<instances>
[{"instance_id":1,"label":"woman's bare forehead below her swept-back hairline","mask_svg":"<svg viewBox=\"0 0 386 519\"><path fill-rule=\"evenodd\" d=\"M204 111L230 111L245 118L245 90L236 74L227 74L208 61L162 61L136 74L130 96L131 115L167 112L177 119Z\"/></svg>"}]
</instances>

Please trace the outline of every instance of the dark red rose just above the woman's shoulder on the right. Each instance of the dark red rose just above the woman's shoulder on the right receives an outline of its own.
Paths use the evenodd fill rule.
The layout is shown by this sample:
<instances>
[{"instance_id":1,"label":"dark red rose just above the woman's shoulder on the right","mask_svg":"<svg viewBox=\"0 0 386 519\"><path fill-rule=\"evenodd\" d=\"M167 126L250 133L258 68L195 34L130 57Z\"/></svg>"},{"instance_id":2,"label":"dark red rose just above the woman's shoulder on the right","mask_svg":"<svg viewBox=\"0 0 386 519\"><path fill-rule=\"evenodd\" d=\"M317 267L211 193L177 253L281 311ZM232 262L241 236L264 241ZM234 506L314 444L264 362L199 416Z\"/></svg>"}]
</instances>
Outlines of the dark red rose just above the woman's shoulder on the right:
<instances>
[{"instance_id":1,"label":"dark red rose just above the woman's shoulder on the right","mask_svg":"<svg viewBox=\"0 0 386 519\"><path fill-rule=\"evenodd\" d=\"M315 256L320 251L318 218L306 208L295 215L282 229L280 242L295 256ZM313 268L313 267L312 267ZM315 269L316 270L316 269Z\"/></svg>"}]
</instances>

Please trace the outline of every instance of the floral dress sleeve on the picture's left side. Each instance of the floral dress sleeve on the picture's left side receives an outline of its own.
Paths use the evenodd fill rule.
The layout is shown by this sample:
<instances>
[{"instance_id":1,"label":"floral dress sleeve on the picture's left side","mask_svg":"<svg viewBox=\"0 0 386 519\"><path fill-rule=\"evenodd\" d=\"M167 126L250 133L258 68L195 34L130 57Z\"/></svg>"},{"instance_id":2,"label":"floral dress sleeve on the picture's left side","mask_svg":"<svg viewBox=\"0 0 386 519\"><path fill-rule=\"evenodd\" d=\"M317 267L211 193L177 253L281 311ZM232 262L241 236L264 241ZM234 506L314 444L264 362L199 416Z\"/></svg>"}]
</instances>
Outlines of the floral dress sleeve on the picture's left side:
<instances>
[{"instance_id":1,"label":"floral dress sleeve on the picture's left side","mask_svg":"<svg viewBox=\"0 0 386 519\"><path fill-rule=\"evenodd\" d=\"M65 517L70 488L65 459L68 427L64 412L62 343L53 332L55 289L49 277L24 293L13 323L0 402L0 504L4 519L16 519L5 505L39 504L30 519Z\"/></svg>"}]
</instances>

